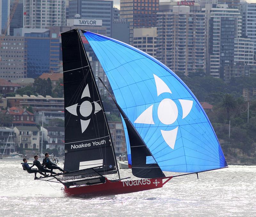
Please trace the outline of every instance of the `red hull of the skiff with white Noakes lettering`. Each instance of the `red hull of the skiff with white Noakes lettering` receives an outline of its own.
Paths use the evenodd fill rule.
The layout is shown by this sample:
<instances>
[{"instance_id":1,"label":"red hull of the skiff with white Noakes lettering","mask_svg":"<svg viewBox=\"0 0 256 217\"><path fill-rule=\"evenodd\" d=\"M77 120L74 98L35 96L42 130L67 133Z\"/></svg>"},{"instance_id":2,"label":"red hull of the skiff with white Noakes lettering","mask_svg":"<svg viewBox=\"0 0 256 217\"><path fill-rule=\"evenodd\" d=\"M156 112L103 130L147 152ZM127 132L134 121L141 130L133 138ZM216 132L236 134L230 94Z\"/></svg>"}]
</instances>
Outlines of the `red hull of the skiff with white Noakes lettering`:
<instances>
[{"instance_id":1,"label":"red hull of the skiff with white Noakes lettering","mask_svg":"<svg viewBox=\"0 0 256 217\"><path fill-rule=\"evenodd\" d=\"M167 180L164 181L164 179ZM106 178L105 183L74 188L65 187L64 192L69 197L82 198L126 194L137 191L162 188L163 185L170 179L172 179L172 176L157 179L140 179L127 181L110 181Z\"/></svg>"}]
</instances>

